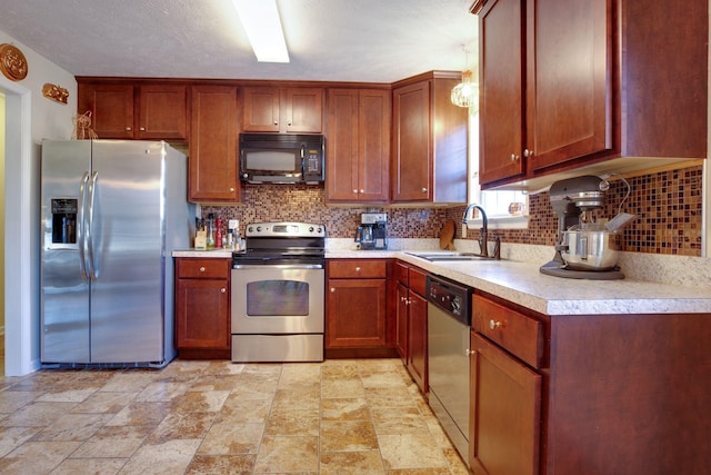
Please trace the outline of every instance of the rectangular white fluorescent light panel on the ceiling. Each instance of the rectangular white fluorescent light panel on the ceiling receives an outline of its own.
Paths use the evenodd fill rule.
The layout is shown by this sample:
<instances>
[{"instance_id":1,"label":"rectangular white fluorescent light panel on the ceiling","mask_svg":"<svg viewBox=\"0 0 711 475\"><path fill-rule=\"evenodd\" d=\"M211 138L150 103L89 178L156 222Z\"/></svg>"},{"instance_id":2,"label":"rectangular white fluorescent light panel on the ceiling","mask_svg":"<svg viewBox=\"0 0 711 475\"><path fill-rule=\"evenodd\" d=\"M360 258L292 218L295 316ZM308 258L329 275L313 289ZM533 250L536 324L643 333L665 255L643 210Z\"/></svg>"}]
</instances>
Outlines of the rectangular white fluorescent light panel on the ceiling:
<instances>
[{"instance_id":1,"label":"rectangular white fluorescent light panel on the ceiling","mask_svg":"<svg viewBox=\"0 0 711 475\"><path fill-rule=\"evenodd\" d=\"M277 0L232 0L257 60L289 62Z\"/></svg>"}]
</instances>

